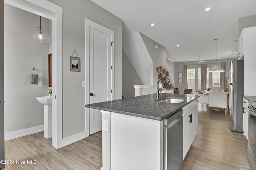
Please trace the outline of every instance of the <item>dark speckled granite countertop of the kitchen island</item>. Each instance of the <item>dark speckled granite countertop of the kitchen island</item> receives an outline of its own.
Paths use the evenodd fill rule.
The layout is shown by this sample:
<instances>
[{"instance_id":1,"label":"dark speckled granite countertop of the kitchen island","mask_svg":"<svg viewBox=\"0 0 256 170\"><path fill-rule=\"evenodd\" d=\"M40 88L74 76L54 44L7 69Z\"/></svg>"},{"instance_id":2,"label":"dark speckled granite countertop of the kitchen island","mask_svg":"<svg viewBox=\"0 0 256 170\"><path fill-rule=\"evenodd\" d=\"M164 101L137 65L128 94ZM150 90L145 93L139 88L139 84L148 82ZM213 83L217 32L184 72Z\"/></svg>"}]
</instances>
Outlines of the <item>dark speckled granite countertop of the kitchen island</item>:
<instances>
[{"instance_id":1,"label":"dark speckled granite countertop of the kitchen island","mask_svg":"<svg viewBox=\"0 0 256 170\"><path fill-rule=\"evenodd\" d=\"M148 94L134 98L87 104L85 107L161 121L199 98L198 95L191 94L160 94L160 99L166 97L185 98L185 100L176 104L156 102L156 94Z\"/></svg>"}]
</instances>

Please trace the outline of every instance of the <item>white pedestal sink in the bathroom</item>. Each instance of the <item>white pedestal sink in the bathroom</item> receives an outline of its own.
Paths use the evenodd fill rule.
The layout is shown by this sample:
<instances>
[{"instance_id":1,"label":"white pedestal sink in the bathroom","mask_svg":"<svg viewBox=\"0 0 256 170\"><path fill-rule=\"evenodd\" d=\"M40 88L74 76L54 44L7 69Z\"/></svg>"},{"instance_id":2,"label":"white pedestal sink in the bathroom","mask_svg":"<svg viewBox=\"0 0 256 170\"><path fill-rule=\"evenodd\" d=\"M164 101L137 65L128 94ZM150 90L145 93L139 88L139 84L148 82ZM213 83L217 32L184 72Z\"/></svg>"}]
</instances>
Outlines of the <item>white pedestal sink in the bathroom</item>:
<instances>
[{"instance_id":1,"label":"white pedestal sink in the bathroom","mask_svg":"<svg viewBox=\"0 0 256 170\"><path fill-rule=\"evenodd\" d=\"M52 137L52 97L36 97L36 100L44 105L44 137Z\"/></svg>"}]
</instances>

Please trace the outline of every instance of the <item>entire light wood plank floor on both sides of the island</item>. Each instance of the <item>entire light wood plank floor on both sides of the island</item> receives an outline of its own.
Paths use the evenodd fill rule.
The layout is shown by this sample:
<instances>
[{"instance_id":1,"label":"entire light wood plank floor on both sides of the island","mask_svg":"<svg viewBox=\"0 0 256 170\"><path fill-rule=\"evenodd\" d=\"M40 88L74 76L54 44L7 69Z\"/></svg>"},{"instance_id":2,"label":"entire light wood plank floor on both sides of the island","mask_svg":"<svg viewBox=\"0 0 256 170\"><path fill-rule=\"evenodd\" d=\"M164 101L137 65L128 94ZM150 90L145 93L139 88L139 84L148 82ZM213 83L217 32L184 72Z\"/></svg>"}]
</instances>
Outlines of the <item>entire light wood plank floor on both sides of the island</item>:
<instances>
[{"instance_id":1,"label":"entire light wood plank floor on both sides of the island","mask_svg":"<svg viewBox=\"0 0 256 170\"><path fill-rule=\"evenodd\" d=\"M5 142L5 159L14 160L4 170L100 170L102 167L102 133L54 149L43 132ZM16 161L26 164L17 164ZM27 164L36 160L36 164ZM198 105L198 133L184 159L184 170L250 170L247 141L242 133L228 127L228 115L222 111L208 113Z\"/></svg>"}]
</instances>

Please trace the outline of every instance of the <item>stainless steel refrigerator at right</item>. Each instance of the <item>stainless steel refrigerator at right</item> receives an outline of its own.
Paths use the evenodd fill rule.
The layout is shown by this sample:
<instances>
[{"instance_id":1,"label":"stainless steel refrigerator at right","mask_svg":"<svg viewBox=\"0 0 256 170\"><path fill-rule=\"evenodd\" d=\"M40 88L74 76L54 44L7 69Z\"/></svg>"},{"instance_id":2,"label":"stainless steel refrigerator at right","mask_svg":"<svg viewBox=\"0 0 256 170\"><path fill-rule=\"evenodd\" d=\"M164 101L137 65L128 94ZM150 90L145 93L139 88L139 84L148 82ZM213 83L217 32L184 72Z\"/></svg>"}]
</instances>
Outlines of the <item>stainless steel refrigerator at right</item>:
<instances>
[{"instance_id":1,"label":"stainless steel refrigerator at right","mask_svg":"<svg viewBox=\"0 0 256 170\"><path fill-rule=\"evenodd\" d=\"M229 127L243 132L244 60L230 62Z\"/></svg>"}]
</instances>

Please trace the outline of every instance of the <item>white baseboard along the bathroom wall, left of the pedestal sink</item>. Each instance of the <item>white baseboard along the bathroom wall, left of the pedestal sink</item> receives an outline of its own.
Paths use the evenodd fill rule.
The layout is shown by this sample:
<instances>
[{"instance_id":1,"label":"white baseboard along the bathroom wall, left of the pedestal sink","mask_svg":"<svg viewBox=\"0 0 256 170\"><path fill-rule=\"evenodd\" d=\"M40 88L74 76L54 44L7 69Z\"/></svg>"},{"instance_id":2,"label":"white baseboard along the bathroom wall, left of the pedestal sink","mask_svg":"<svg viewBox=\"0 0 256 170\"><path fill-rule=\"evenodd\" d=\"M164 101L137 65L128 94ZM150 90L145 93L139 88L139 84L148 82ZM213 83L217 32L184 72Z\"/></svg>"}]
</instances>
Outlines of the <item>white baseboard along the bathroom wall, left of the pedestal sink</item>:
<instances>
[{"instance_id":1,"label":"white baseboard along the bathroom wall, left of the pedestal sink","mask_svg":"<svg viewBox=\"0 0 256 170\"><path fill-rule=\"evenodd\" d=\"M18 137L22 137L22 136L30 135L33 133L42 132L42 131L44 131L44 125L30 127L28 129L22 129L22 130L10 132L10 133L5 133L4 141L8 141L10 139L15 139Z\"/></svg>"}]
</instances>

